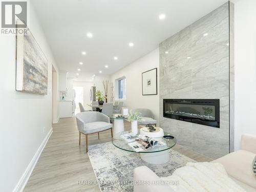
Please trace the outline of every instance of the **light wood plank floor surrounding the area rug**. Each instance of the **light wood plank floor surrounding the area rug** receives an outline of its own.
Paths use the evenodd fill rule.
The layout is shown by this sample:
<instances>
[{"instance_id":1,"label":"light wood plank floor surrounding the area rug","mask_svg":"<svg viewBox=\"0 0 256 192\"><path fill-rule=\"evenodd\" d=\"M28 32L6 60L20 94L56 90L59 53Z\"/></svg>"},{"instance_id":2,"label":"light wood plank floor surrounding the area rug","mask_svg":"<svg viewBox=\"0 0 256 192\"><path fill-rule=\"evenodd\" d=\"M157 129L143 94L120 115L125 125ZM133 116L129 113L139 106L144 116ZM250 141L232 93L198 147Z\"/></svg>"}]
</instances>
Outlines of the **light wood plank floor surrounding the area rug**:
<instances>
[{"instance_id":1,"label":"light wood plank floor surrounding the area rug","mask_svg":"<svg viewBox=\"0 0 256 192\"><path fill-rule=\"evenodd\" d=\"M124 121L125 129L130 129ZM110 131L90 135L89 145L111 141ZM212 159L188 150L181 145L173 147L175 151L196 161ZM88 191L99 192L98 185L78 185L77 181L96 181L92 165L86 154L84 136L78 145L78 131L75 118L61 118L53 124L53 133L42 152L24 191Z\"/></svg>"}]
</instances>

